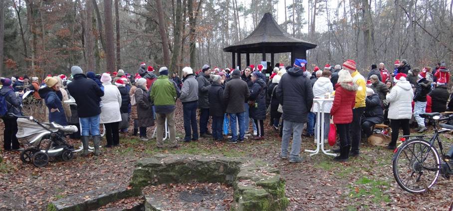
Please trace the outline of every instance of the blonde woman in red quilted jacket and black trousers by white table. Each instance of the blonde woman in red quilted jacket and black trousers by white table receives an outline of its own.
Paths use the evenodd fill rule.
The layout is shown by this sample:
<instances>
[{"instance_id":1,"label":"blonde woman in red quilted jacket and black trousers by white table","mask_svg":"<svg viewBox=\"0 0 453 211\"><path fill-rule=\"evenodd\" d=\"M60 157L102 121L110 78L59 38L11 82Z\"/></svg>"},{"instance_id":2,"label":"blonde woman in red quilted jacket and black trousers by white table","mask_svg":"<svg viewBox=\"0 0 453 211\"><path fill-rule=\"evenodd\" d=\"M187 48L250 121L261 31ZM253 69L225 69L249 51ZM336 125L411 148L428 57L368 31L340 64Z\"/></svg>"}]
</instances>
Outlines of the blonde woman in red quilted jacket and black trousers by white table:
<instances>
[{"instance_id":1,"label":"blonde woman in red quilted jacket and black trousers by white table","mask_svg":"<svg viewBox=\"0 0 453 211\"><path fill-rule=\"evenodd\" d=\"M355 105L357 85L354 84L351 74L347 70L338 72L338 83L335 84L335 98L330 109L333 116L333 123L337 127L340 138L340 156L335 161L347 161L351 148L351 137L349 129L352 122L352 108ZM360 131L357 131L360 133Z\"/></svg>"}]
</instances>

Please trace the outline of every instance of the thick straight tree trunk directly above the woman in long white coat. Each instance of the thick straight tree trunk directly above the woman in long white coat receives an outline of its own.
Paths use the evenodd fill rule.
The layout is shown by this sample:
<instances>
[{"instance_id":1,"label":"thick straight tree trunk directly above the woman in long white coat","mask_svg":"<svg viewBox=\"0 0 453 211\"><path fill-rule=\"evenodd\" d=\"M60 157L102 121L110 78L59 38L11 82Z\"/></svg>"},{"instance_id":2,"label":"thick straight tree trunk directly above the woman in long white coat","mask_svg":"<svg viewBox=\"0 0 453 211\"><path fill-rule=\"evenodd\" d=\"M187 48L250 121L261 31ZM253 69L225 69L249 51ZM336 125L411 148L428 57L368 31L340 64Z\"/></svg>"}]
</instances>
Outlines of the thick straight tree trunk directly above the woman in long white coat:
<instances>
[{"instance_id":1,"label":"thick straight tree trunk directly above the woman in long white coat","mask_svg":"<svg viewBox=\"0 0 453 211\"><path fill-rule=\"evenodd\" d=\"M115 69L115 44L113 43L112 0L104 0L106 71Z\"/></svg>"}]
</instances>

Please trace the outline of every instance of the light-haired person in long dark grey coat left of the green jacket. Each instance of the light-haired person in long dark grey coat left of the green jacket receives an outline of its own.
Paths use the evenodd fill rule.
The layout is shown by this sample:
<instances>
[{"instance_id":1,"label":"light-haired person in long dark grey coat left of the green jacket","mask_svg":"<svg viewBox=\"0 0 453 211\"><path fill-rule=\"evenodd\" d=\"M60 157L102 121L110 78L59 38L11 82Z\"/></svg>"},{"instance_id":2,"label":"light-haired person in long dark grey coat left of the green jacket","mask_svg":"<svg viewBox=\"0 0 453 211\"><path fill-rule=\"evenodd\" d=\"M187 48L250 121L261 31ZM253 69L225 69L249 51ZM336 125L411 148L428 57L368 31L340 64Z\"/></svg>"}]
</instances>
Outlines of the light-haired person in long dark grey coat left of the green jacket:
<instances>
[{"instance_id":1,"label":"light-haired person in long dark grey coat left of the green jacket","mask_svg":"<svg viewBox=\"0 0 453 211\"><path fill-rule=\"evenodd\" d=\"M135 102L137 103L138 128L140 131L140 141L148 141L146 128L154 126L153 107L149 98L146 79L138 78L135 80ZM131 89L132 90L132 89Z\"/></svg>"}]
</instances>

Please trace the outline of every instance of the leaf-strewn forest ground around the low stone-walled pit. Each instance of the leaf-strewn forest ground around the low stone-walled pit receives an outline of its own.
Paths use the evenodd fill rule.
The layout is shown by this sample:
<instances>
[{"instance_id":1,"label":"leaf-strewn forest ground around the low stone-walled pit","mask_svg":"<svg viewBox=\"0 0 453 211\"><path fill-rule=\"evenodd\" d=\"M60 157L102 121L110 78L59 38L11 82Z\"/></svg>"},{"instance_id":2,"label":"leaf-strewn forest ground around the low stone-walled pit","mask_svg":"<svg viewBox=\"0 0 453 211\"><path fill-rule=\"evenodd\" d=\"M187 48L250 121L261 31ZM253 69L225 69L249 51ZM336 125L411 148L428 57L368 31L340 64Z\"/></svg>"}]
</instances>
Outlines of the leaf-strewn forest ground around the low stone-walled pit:
<instances>
[{"instance_id":1,"label":"leaf-strewn forest ground around the low stone-walled pit","mask_svg":"<svg viewBox=\"0 0 453 211\"><path fill-rule=\"evenodd\" d=\"M178 136L184 134L181 105L178 105ZM268 125L268 120L265 122ZM151 134L154 128L149 128ZM0 130L2 132L2 130ZM122 137L121 146L103 149L100 157L76 156L72 161L52 159L48 166L35 168L22 164L19 153L2 152L0 164L0 210L45 210L48 202L116 183L126 187L135 161L156 153L222 154L228 157L261 158L279 168L286 180L288 210L448 210L453 201L453 179L439 177L438 183L424 194L403 191L392 174L393 152L362 145L361 155L337 163L330 156L309 157L289 164L279 159L280 139L266 127L266 139L238 144L218 143L211 139L182 143L178 149L156 148L156 141L141 142L137 137ZM432 132L431 132L432 133ZM0 136L2 134L0 133ZM444 146L452 143L443 134ZM80 146L70 140L76 147ZM314 149L312 139L303 137L302 149ZM133 201L133 200L130 200ZM120 203L128 203L120 202ZM134 203L134 202L130 202Z\"/></svg>"}]
</instances>

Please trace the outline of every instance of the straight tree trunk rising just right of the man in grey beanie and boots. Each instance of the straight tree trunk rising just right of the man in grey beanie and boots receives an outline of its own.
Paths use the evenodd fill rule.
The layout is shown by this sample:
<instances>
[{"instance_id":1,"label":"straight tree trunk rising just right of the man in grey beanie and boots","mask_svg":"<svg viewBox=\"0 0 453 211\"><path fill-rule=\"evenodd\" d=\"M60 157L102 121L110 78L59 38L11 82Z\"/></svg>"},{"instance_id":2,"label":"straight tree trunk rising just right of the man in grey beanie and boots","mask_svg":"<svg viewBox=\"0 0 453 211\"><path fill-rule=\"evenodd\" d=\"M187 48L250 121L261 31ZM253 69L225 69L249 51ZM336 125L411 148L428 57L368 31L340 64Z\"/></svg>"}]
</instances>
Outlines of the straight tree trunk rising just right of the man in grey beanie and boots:
<instances>
[{"instance_id":1,"label":"straight tree trunk rising just right of the man in grey beanie and boots","mask_svg":"<svg viewBox=\"0 0 453 211\"><path fill-rule=\"evenodd\" d=\"M88 1L85 2L85 52L87 71L93 71L95 68L93 50L93 4Z\"/></svg>"}]
</instances>

